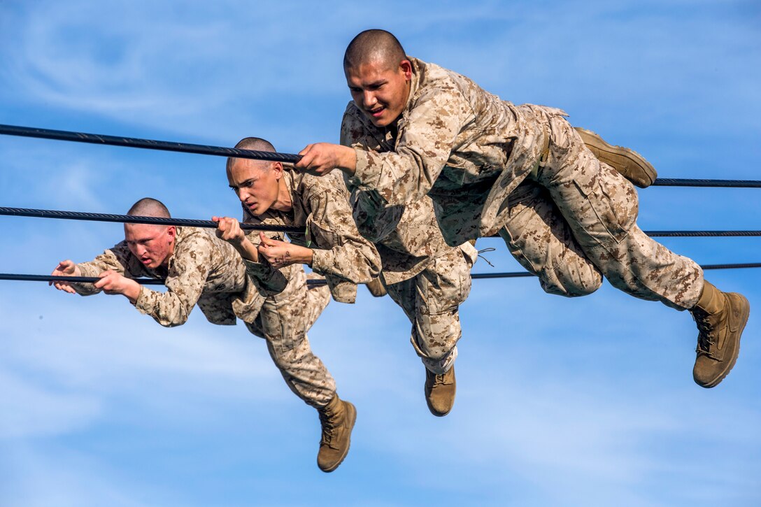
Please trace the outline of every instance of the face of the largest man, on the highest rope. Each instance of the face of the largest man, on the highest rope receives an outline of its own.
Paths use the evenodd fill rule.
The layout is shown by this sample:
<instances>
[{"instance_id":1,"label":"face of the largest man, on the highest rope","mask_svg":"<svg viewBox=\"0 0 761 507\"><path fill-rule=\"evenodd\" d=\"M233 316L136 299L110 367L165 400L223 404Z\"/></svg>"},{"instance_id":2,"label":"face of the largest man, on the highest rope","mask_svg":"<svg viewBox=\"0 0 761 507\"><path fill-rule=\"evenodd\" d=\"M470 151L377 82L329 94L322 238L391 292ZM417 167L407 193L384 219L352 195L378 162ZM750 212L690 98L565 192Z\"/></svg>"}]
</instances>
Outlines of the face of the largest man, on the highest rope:
<instances>
[{"instance_id":1,"label":"face of the largest man, on the highest rope","mask_svg":"<svg viewBox=\"0 0 761 507\"><path fill-rule=\"evenodd\" d=\"M412 79L409 60L394 67L374 59L344 70L354 104L374 126L389 126L399 118L407 104Z\"/></svg>"}]
</instances>

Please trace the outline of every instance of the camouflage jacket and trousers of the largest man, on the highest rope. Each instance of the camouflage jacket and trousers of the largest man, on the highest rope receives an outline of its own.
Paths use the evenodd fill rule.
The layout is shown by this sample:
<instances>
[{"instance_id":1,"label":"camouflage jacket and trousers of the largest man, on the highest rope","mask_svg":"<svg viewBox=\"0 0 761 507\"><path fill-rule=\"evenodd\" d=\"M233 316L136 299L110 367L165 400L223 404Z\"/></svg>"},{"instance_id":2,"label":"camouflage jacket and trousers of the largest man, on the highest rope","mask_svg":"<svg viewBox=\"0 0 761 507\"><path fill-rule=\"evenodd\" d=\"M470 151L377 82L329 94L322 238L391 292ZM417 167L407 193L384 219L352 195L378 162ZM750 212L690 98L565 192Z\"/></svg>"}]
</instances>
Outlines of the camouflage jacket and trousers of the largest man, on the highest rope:
<instances>
[{"instance_id":1,"label":"camouflage jacket and trousers of the largest man, on the highest rope","mask_svg":"<svg viewBox=\"0 0 761 507\"><path fill-rule=\"evenodd\" d=\"M638 298L696 304L700 267L637 227L634 187L594 158L562 110L515 106L462 75L410 61L396 132L373 126L353 103L345 112L361 125L357 136L393 144L356 148L350 184L377 190L387 206L431 196L451 245L499 233L548 292L587 294L602 273Z\"/></svg>"}]
</instances>

